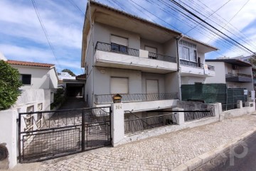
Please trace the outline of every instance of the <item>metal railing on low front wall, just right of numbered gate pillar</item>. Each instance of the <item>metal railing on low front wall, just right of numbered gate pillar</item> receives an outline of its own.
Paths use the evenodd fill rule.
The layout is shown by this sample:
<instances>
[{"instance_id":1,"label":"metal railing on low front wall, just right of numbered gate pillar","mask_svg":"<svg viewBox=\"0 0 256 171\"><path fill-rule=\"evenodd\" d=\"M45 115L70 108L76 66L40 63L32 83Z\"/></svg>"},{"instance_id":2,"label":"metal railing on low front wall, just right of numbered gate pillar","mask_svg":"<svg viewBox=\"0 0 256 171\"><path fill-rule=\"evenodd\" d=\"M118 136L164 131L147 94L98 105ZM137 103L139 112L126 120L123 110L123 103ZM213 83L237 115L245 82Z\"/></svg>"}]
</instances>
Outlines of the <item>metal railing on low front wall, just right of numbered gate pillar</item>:
<instances>
[{"instance_id":1,"label":"metal railing on low front wall, just right of numbered gate pillar","mask_svg":"<svg viewBox=\"0 0 256 171\"><path fill-rule=\"evenodd\" d=\"M131 111L125 111L126 114L131 114ZM136 116L135 114L132 114ZM131 119L129 121L124 121L124 133L136 133L144 131L150 128L156 128L159 126L174 125L177 124L174 114L164 114L158 116L150 116L145 118Z\"/></svg>"}]
</instances>

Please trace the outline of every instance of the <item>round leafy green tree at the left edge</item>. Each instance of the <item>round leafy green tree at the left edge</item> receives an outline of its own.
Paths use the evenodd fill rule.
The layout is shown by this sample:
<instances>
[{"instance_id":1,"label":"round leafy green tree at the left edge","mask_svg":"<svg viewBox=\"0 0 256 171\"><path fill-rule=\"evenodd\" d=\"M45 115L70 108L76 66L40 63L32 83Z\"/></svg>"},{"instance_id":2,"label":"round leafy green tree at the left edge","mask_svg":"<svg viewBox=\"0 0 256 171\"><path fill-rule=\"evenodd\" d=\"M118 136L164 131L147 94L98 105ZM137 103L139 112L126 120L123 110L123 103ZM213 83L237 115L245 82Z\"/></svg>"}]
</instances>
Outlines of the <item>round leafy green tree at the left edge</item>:
<instances>
[{"instance_id":1,"label":"round leafy green tree at the left edge","mask_svg":"<svg viewBox=\"0 0 256 171\"><path fill-rule=\"evenodd\" d=\"M9 109L16 102L21 85L18 70L0 60L0 110Z\"/></svg>"}]
</instances>

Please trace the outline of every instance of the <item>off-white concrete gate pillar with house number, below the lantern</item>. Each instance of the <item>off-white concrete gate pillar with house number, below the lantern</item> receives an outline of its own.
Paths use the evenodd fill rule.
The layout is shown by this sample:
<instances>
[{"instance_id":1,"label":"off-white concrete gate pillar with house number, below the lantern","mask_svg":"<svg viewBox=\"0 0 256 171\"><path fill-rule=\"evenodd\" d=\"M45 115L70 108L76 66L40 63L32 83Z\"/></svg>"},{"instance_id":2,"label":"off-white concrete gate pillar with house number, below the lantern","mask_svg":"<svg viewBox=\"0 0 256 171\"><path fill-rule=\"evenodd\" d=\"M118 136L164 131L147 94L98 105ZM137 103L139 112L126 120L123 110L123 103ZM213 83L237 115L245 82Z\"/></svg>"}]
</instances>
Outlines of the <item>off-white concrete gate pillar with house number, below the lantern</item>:
<instances>
[{"instance_id":1,"label":"off-white concrete gate pillar with house number, below the lantern","mask_svg":"<svg viewBox=\"0 0 256 171\"><path fill-rule=\"evenodd\" d=\"M111 104L112 145L116 146L124 138L124 108L122 103Z\"/></svg>"}]
</instances>

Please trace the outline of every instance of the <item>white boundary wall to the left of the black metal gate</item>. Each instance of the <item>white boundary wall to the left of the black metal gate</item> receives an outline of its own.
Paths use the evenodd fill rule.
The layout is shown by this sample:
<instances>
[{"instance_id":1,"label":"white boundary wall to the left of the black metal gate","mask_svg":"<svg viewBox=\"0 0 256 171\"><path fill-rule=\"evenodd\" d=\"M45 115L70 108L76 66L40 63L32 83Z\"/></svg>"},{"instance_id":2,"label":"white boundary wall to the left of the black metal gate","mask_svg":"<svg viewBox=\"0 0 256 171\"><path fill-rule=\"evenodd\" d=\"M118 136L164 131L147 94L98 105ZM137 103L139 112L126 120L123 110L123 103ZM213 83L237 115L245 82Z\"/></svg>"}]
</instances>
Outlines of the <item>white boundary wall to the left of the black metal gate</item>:
<instances>
[{"instance_id":1,"label":"white boundary wall to the left of the black metal gate","mask_svg":"<svg viewBox=\"0 0 256 171\"><path fill-rule=\"evenodd\" d=\"M6 144L9 153L9 168L14 167L18 162L18 113L26 112L31 106L33 106L33 111L38 111L38 104L39 106L42 104L42 111L50 110L50 89L23 90L11 109L0 111L0 145ZM21 119L21 131L24 127L25 123ZM1 166L5 165L4 162L6 161L0 161L0 170Z\"/></svg>"}]
</instances>

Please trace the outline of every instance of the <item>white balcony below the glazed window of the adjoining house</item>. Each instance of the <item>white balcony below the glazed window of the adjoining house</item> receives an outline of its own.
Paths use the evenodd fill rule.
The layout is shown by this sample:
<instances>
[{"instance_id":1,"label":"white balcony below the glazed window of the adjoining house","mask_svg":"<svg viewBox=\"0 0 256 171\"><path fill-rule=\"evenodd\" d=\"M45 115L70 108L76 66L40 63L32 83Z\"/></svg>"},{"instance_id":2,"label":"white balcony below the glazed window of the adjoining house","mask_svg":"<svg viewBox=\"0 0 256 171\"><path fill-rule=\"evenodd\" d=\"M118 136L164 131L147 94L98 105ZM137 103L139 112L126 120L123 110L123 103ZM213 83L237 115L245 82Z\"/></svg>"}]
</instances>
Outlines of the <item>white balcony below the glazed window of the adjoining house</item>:
<instances>
[{"instance_id":1,"label":"white balcony below the glazed window of the adjoining house","mask_svg":"<svg viewBox=\"0 0 256 171\"><path fill-rule=\"evenodd\" d=\"M207 65L208 70L205 69L204 64L198 62L191 62L188 60L180 60L181 76L188 77L213 77L215 76L215 67Z\"/></svg>"}]
</instances>

